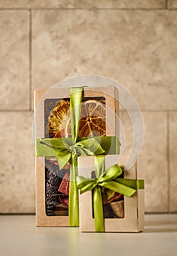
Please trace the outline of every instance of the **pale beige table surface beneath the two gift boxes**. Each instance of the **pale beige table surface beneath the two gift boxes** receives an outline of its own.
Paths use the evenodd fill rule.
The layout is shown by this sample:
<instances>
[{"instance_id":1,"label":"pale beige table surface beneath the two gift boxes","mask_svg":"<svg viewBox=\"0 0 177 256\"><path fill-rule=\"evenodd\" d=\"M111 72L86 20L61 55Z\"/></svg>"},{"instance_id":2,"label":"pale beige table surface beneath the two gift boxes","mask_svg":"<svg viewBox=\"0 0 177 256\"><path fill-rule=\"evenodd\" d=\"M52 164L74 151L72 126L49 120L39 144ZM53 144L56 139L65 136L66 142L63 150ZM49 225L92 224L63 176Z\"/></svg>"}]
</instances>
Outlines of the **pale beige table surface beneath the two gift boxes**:
<instances>
[{"instance_id":1,"label":"pale beige table surface beneath the two gift boxes","mask_svg":"<svg viewBox=\"0 0 177 256\"><path fill-rule=\"evenodd\" d=\"M177 214L146 214L143 233L36 227L34 215L0 216L0 256L177 256Z\"/></svg>"}]
</instances>

